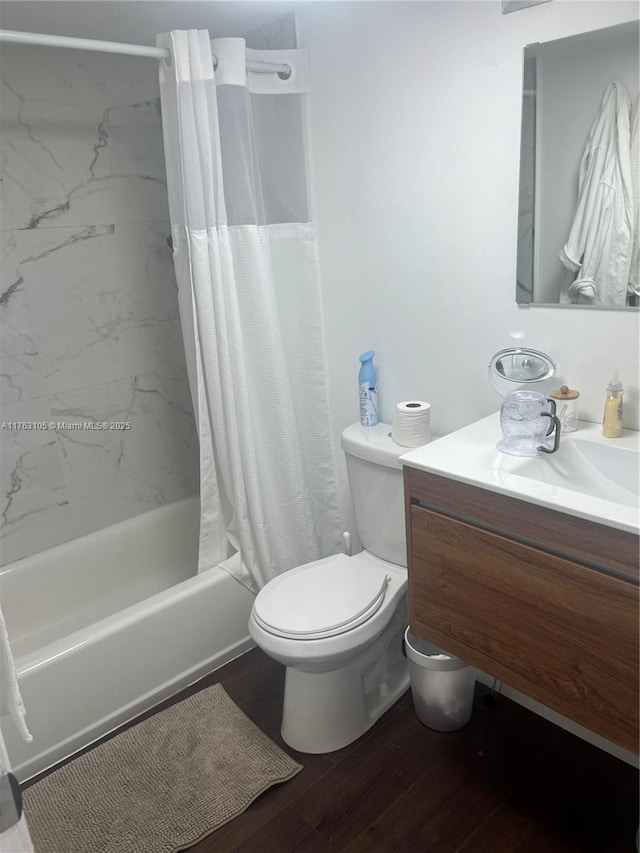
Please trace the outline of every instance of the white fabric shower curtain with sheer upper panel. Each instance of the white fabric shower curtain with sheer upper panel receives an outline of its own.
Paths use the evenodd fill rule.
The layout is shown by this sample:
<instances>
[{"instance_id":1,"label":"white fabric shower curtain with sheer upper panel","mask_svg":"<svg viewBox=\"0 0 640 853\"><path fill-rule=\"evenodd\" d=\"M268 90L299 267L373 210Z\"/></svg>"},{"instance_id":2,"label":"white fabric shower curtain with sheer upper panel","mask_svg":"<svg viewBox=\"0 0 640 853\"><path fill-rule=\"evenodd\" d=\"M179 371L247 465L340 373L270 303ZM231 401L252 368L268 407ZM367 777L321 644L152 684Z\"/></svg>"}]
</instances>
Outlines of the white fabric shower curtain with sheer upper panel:
<instances>
[{"instance_id":1,"label":"white fabric shower curtain with sheer upper panel","mask_svg":"<svg viewBox=\"0 0 640 853\"><path fill-rule=\"evenodd\" d=\"M172 54L160 63L160 93L200 438L199 570L220 563L256 592L341 541L306 51L249 50L206 30L161 34L158 45ZM249 60L291 71L248 71Z\"/></svg>"}]
</instances>

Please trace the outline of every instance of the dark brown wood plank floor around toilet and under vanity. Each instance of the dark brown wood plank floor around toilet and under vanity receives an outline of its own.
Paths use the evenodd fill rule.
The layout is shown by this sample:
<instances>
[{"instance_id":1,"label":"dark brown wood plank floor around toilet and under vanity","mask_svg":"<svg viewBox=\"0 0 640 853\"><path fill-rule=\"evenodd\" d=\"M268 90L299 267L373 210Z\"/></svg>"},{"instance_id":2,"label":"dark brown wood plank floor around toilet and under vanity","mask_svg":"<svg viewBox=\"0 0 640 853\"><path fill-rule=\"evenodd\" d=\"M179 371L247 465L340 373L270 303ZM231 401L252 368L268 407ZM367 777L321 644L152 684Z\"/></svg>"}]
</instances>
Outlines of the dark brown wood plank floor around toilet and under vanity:
<instances>
[{"instance_id":1,"label":"dark brown wood plank floor around toilet and under vanity","mask_svg":"<svg viewBox=\"0 0 640 853\"><path fill-rule=\"evenodd\" d=\"M254 649L172 701L215 682L304 769L190 853L635 853L637 770L508 699L488 710L484 687L461 731L421 725L407 693L356 743L303 755L280 737L283 667Z\"/></svg>"}]
</instances>

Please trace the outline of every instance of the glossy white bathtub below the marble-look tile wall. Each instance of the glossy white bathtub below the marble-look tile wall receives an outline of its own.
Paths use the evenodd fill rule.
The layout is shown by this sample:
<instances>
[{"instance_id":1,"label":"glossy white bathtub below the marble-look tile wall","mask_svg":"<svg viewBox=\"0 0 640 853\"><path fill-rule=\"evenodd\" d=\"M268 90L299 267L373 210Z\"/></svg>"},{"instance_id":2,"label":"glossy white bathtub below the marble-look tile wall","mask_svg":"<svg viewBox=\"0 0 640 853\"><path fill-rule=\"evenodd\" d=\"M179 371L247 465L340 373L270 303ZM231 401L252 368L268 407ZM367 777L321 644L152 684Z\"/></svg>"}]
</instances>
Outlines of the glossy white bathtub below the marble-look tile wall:
<instances>
[{"instance_id":1,"label":"glossy white bathtub below the marble-look tile wall","mask_svg":"<svg viewBox=\"0 0 640 853\"><path fill-rule=\"evenodd\" d=\"M252 648L253 595L196 574L186 498L0 569L33 742L3 732L25 781Z\"/></svg>"}]
</instances>

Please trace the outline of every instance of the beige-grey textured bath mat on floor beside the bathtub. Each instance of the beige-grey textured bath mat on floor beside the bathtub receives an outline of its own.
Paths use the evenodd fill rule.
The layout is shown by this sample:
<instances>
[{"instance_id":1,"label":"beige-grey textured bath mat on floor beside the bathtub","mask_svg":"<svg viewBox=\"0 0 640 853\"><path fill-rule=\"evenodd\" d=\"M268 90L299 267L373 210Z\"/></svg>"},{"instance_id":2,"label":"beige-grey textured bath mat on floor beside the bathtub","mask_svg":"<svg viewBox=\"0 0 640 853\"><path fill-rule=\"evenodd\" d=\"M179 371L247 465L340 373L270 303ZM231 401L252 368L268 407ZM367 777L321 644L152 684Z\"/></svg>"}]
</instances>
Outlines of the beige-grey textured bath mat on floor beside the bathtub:
<instances>
[{"instance_id":1,"label":"beige-grey textured bath mat on floor beside the bathtub","mask_svg":"<svg viewBox=\"0 0 640 853\"><path fill-rule=\"evenodd\" d=\"M302 766L214 684L24 791L35 853L173 853Z\"/></svg>"}]
</instances>

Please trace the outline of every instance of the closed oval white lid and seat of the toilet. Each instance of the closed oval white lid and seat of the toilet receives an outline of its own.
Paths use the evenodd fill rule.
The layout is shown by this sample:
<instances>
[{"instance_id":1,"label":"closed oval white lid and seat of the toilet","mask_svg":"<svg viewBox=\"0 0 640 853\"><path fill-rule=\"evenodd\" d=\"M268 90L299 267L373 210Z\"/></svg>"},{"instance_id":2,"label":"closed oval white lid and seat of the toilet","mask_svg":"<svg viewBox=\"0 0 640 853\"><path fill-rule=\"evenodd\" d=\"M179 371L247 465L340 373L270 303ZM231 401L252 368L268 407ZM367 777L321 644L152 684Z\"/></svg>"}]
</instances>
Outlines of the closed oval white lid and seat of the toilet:
<instances>
[{"instance_id":1,"label":"closed oval white lid and seat of the toilet","mask_svg":"<svg viewBox=\"0 0 640 853\"><path fill-rule=\"evenodd\" d=\"M351 631L376 613L390 577L366 552L337 554L285 572L262 589L253 615L280 637L318 640Z\"/></svg>"}]
</instances>

